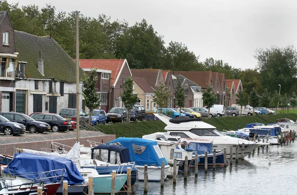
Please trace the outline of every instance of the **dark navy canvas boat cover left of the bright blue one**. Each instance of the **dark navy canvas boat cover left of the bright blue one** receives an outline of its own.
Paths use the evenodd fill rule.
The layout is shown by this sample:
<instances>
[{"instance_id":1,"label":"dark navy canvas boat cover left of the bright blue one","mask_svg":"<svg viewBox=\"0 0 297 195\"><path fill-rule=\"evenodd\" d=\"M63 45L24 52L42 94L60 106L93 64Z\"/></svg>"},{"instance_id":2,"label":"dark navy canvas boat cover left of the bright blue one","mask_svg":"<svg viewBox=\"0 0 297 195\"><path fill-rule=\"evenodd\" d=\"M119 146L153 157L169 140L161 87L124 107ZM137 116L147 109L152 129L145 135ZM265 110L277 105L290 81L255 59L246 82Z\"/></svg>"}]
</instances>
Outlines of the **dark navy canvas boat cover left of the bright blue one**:
<instances>
[{"instance_id":1,"label":"dark navy canvas boat cover left of the bright blue one","mask_svg":"<svg viewBox=\"0 0 297 195\"><path fill-rule=\"evenodd\" d=\"M119 146L119 145L106 145L106 144L100 144L96 146L95 148L92 148L91 151L91 158L94 159L94 150L108 150L108 162L110 162L110 152L114 151L117 152L120 156L121 163L124 162L130 162L130 156L129 156L129 149Z\"/></svg>"}]
</instances>

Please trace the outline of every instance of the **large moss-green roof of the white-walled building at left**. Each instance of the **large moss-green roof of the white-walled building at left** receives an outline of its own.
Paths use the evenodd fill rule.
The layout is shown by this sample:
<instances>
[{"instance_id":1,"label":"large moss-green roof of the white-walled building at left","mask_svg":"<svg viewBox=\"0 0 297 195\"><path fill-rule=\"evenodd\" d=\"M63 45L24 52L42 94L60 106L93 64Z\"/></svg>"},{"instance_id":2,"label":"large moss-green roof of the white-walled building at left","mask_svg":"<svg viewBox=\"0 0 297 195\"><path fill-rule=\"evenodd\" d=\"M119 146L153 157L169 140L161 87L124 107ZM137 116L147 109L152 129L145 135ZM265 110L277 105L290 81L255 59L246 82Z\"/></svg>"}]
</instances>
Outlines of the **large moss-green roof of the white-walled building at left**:
<instances>
[{"instance_id":1,"label":"large moss-green roof of the white-walled building at left","mask_svg":"<svg viewBox=\"0 0 297 195\"><path fill-rule=\"evenodd\" d=\"M75 62L54 39L49 36L38 37L21 31L14 31L14 38L19 61L27 62L26 78L49 79L53 77L55 80L75 82ZM37 69L39 51L42 51L45 76ZM81 68L79 74L80 78L83 78L84 71Z\"/></svg>"}]
</instances>

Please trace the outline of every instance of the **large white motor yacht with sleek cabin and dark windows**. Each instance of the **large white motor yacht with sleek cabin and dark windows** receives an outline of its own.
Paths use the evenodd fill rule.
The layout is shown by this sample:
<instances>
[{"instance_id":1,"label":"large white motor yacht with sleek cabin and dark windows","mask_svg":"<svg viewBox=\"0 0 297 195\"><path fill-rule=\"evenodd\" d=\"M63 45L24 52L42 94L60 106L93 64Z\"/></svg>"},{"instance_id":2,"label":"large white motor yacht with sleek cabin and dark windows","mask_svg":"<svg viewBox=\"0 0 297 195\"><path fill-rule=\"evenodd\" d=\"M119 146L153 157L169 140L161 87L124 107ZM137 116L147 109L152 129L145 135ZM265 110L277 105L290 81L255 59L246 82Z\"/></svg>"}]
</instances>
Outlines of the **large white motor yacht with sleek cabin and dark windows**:
<instances>
[{"instance_id":1,"label":"large white motor yacht with sleek cabin and dark windows","mask_svg":"<svg viewBox=\"0 0 297 195\"><path fill-rule=\"evenodd\" d=\"M224 148L226 148L227 158L230 158L230 147L232 147L233 157L235 158L236 146L238 146L239 156L244 157L258 146L263 145L263 143L227 136L222 132L217 131L215 126L202 122L201 118L169 118L162 114L154 114L154 116L167 125L164 129L170 135L177 135L182 138L200 138L213 141L214 149L223 151ZM243 144L245 144L244 150Z\"/></svg>"}]
</instances>

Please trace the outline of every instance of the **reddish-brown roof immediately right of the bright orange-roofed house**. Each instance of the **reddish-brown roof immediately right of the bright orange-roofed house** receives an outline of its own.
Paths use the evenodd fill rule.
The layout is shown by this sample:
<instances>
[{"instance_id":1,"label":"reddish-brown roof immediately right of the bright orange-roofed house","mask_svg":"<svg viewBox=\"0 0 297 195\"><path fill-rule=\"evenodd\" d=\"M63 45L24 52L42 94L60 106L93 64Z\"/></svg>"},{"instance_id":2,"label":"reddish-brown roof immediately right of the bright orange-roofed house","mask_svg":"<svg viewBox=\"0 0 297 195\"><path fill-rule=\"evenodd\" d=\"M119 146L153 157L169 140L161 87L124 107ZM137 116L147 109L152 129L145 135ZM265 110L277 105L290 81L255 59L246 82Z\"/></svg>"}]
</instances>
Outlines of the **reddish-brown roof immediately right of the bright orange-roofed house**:
<instances>
[{"instance_id":1,"label":"reddish-brown roof immediately right of the bright orange-roofed house","mask_svg":"<svg viewBox=\"0 0 297 195\"><path fill-rule=\"evenodd\" d=\"M140 77L148 82L149 86L154 87L157 83L159 69L131 69L133 77Z\"/></svg>"}]
</instances>

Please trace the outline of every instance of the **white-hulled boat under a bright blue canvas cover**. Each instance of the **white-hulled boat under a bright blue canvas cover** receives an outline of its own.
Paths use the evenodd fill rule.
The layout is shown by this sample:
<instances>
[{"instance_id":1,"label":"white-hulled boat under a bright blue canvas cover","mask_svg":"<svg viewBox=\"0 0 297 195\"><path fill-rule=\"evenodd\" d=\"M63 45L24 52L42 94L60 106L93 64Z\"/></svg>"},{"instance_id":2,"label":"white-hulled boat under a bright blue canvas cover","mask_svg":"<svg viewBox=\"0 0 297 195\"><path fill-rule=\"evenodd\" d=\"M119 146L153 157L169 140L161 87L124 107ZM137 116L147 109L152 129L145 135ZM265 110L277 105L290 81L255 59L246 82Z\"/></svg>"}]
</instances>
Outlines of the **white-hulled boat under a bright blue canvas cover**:
<instances>
[{"instance_id":1,"label":"white-hulled boat under a bright blue canvas cover","mask_svg":"<svg viewBox=\"0 0 297 195\"><path fill-rule=\"evenodd\" d=\"M163 156L156 141L142 138L119 137L107 145L121 145L129 149L131 161L135 162L139 181L144 181L145 165L148 165L148 181L159 182L161 180L161 162L164 162L164 177L170 167Z\"/></svg>"}]
</instances>

